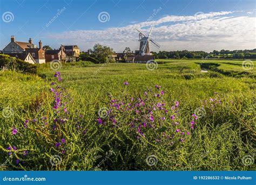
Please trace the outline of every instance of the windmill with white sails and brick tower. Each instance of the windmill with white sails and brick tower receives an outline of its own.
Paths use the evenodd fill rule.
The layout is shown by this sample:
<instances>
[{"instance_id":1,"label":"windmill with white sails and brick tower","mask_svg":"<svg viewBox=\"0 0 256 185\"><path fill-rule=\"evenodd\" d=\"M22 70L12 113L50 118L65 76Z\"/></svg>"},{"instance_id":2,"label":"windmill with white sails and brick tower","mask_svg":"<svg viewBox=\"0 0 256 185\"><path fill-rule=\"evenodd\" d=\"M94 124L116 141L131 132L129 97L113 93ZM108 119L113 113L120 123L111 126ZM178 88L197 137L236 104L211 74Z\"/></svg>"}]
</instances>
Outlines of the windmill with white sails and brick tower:
<instances>
[{"instance_id":1,"label":"windmill with white sails and brick tower","mask_svg":"<svg viewBox=\"0 0 256 185\"><path fill-rule=\"evenodd\" d=\"M150 53L150 49L149 49L149 42L156 48L160 48L160 45L156 42L156 40L153 40L150 37L150 34L152 32L153 29L153 25L151 26L149 35L145 35L143 32L139 31L138 29L136 29L139 32L139 40L140 41L140 45L139 45L139 54L140 55L151 55Z\"/></svg>"}]
</instances>

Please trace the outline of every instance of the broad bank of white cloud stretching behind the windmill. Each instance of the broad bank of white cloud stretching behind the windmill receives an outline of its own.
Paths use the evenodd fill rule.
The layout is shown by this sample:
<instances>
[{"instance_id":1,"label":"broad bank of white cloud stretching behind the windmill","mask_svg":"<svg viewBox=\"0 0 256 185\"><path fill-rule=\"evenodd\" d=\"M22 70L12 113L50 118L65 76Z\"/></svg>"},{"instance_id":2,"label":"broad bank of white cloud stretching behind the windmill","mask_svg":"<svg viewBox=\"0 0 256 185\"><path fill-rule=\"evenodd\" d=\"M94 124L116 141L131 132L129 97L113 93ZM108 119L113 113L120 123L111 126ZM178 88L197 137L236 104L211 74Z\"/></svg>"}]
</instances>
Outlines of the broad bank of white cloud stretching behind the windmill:
<instances>
[{"instance_id":1,"label":"broad bank of white cloud stretching behind the windmill","mask_svg":"<svg viewBox=\"0 0 256 185\"><path fill-rule=\"evenodd\" d=\"M231 11L210 12L194 16L164 16L151 22L141 22L105 30L66 31L49 36L76 43L82 50L99 42L111 46L116 52L125 47L138 49L138 32L134 27L147 33L155 25L152 38L161 45L160 50L203 50L252 49L256 43L255 17L232 16ZM65 43L63 43L65 44ZM151 46L152 51L157 51Z\"/></svg>"}]
</instances>

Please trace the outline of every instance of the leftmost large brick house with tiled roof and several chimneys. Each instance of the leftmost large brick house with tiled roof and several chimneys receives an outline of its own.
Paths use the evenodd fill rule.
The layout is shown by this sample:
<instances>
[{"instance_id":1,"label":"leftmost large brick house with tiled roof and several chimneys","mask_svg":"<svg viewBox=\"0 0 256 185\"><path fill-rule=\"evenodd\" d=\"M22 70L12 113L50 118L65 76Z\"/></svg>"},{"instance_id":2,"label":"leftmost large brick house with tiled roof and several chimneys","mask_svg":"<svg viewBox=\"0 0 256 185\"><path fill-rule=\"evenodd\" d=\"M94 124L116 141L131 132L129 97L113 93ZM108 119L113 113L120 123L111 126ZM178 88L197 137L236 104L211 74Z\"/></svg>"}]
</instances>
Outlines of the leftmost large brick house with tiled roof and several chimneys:
<instances>
[{"instance_id":1,"label":"leftmost large brick house with tiled roof and several chimneys","mask_svg":"<svg viewBox=\"0 0 256 185\"><path fill-rule=\"evenodd\" d=\"M16 41L14 35L11 36L11 42L3 49L4 54L22 54L19 56L28 56L31 54L36 63L45 63L45 53L42 48L42 42L39 41L39 48L32 43L32 39L29 42Z\"/></svg>"}]
</instances>

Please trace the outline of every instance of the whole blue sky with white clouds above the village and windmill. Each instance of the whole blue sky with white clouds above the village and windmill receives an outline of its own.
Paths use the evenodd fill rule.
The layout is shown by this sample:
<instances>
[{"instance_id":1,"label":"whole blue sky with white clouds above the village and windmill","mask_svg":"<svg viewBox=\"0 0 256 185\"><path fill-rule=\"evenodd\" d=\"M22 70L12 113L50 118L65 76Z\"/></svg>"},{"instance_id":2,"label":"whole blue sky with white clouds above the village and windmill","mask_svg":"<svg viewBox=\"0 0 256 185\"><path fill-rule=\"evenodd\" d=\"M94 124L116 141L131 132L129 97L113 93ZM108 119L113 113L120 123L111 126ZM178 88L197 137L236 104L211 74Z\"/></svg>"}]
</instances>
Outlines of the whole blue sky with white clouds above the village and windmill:
<instances>
[{"instance_id":1,"label":"whole blue sky with white clouds above the village and windmill","mask_svg":"<svg viewBox=\"0 0 256 185\"><path fill-rule=\"evenodd\" d=\"M134 28L148 34L151 25L154 52L254 49L255 9L253 0L0 0L0 50L15 35L56 49L99 43L135 51Z\"/></svg>"}]
</instances>

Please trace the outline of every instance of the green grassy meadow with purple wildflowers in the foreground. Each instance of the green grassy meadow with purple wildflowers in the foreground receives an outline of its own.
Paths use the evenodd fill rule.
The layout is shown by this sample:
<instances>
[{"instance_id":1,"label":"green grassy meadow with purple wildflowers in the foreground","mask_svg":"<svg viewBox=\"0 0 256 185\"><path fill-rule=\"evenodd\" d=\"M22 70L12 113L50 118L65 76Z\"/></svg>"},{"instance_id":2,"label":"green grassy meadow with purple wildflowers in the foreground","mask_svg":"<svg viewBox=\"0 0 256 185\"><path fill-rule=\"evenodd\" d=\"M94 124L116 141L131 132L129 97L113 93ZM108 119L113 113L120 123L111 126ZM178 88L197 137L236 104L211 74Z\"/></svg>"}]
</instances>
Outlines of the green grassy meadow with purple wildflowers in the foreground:
<instances>
[{"instance_id":1,"label":"green grassy meadow with purple wildflowers in the foreground","mask_svg":"<svg viewBox=\"0 0 256 185\"><path fill-rule=\"evenodd\" d=\"M255 169L255 67L158 61L0 72L0 168Z\"/></svg>"}]
</instances>

